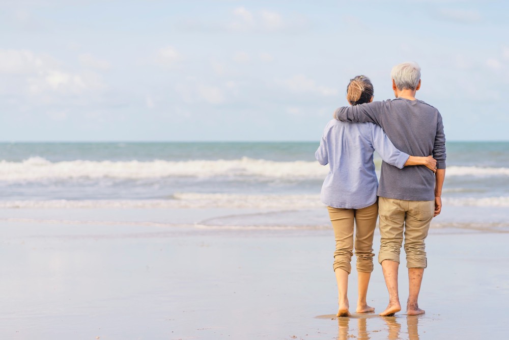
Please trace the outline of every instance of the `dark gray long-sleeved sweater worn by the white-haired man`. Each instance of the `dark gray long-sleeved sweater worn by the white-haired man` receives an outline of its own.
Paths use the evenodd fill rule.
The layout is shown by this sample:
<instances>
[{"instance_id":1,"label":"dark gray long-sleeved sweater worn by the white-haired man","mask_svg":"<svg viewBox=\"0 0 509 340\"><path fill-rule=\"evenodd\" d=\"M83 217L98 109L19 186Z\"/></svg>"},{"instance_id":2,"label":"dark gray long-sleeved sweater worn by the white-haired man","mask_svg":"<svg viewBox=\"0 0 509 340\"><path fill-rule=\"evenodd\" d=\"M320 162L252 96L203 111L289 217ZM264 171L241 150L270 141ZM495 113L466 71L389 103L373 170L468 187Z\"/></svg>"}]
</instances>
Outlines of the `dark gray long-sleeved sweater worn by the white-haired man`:
<instances>
[{"instance_id":1,"label":"dark gray long-sleeved sweater worn by the white-haired man","mask_svg":"<svg viewBox=\"0 0 509 340\"><path fill-rule=\"evenodd\" d=\"M442 116L422 100L396 98L339 108L334 118L350 122L373 122L380 125L396 148L413 156L437 160L445 169L445 135ZM403 169L382 163L378 196L409 201L435 199L435 175L425 166Z\"/></svg>"}]
</instances>

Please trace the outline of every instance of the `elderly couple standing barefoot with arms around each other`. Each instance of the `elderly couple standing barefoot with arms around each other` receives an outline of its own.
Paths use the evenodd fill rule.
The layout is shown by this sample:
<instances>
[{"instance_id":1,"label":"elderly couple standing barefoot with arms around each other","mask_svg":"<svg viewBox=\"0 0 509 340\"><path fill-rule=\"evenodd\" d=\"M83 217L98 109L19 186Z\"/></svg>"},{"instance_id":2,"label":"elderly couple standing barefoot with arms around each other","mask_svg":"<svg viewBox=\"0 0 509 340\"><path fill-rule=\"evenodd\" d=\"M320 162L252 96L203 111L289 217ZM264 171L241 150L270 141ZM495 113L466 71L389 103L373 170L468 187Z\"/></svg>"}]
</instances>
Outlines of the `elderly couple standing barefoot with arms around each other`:
<instances>
[{"instance_id":1,"label":"elderly couple standing barefoot with arms around each other","mask_svg":"<svg viewBox=\"0 0 509 340\"><path fill-rule=\"evenodd\" d=\"M428 265L424 241L431 220L442 208L445 135L438 110L415 98L421 86L419 65L396 65L390 76L396 98L386 101L373 101L373 85L366 76L350 81L347 100L351 106L334 112L335 119L325 127L315 154L318 162L329 164L330 169L321 200L328 206L336 241L333 269L339 317L350 316L347 287L354 247L358 272L356 312L375 310L367 305L366 294L373 271L373 235L378 215L378 261L389 292L389 304L380 315L393 316L401 310L398 267L403 239L409 281L407 313L425 312L417 299ZM380 187L373 163L375 150L383 160Z\"/></svg>"}]
</instances>

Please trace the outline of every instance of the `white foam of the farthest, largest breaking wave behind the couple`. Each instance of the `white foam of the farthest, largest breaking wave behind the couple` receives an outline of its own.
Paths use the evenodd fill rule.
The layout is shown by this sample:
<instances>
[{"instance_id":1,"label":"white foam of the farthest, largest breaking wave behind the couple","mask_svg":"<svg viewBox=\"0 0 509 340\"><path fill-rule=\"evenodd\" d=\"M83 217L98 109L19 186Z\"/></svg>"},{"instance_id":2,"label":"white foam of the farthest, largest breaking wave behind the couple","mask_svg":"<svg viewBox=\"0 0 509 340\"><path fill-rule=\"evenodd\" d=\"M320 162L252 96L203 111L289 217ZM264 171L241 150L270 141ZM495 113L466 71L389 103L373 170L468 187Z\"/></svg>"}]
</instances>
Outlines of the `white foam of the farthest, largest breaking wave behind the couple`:
<instances>
[{"instance_id":1,"label":"white foam of the farthest, largest breaking wave behind the couple","mask_svg":"<svg viewBox=\"0 0 509 340\"><path fill-rule=\"evenodd\" d=\"M241 158L237 160L193 161L63 161L33 157L22 162L0 161L0 180L73 178L143 179L164 177L262 177L323 179L328 166L318 162L275 162ZM509 168L451 166L447 176L509 176Z\"/></svg>"}]
</instances>

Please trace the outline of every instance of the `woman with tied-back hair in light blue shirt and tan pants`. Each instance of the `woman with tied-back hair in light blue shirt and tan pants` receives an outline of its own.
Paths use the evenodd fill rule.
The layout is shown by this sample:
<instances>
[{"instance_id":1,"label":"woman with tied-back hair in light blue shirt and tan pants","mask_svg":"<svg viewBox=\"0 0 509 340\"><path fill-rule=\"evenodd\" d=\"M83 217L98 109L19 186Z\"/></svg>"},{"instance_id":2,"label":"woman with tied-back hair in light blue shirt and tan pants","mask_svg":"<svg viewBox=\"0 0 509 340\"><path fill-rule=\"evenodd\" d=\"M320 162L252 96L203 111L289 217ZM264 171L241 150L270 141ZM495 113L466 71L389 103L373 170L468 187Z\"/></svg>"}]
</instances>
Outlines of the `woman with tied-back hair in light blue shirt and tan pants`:
<instances>
[{"instance_id":1,"label":"woman with tied-back hair in light blue shirt and tan pants","mask_svg":"<svg viewBox=\"0 0 509 340\"><path fill-rule=\"evenodd\" d=\"M348 84L347 100L351 105L371 102L373 93L370 79L358 75ZM384 162L400 169L424 165L435 171L436 161L432 156L414 157L399 151L376 124L333 119L325 127L315 156L321 165L329 164L330 169L320 196L327 204L336 241L333 270L337 280L338 317L350 316L347 290L354 246L358 273L356 312L375 310L366 303L367 286L373 271L373 235L378 218L378 179L373 162L375 150Z\"/></svg>"}]
</instances>

